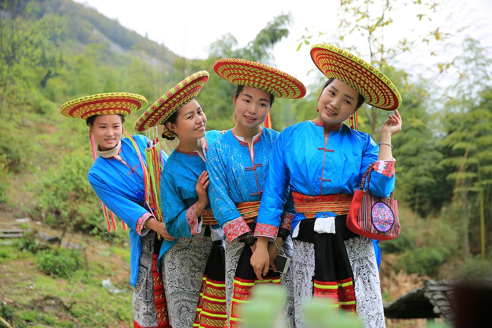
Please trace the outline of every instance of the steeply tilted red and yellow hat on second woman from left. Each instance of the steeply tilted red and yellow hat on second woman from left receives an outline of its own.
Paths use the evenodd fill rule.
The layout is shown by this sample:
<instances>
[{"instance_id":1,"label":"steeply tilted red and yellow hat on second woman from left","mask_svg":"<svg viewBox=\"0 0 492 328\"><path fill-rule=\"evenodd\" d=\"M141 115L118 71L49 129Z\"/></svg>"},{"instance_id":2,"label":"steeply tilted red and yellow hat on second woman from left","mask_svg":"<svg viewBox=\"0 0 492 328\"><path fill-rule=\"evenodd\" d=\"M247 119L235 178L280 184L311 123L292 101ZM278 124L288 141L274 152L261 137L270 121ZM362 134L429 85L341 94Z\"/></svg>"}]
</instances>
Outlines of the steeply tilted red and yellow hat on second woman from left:
<instances>
[{"instance_id":1,"label":"steeply tilted red and yellow hat on second woman from left","mask_svg":"<svg viewBox=\"0 0 492 328\"><path fill-rule=\"evenodd\" d=\"M133 129L145 131L164 124L169 116L198 96L208 78L209 72L206 70L201 70L185 78L155 101L135 122ZM169 129L164 129L163 133L169 137L175 136L174 132L169 131Z\"/></svg>"}]
</instances>

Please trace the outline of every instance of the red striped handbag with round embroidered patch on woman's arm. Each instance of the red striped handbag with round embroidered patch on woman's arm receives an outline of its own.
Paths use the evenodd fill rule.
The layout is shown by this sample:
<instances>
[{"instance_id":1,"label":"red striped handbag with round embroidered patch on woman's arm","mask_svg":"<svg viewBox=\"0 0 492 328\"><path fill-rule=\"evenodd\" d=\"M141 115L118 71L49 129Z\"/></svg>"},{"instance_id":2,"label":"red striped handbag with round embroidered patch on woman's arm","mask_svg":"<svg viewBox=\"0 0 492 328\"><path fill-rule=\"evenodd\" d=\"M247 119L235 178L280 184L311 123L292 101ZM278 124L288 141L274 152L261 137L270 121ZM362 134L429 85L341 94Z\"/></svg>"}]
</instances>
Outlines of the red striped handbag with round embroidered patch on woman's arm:
<instances>
[{"instance_id":1,"label":"red striped handbag with round embroidered patch on woman's arm","mask_svg":"<svg viewBox=\"0 0 492 328\"><path fill-rule=\"evenodd\" d=\"M371 239L389 240L400 234L398 219L398 202L390 197L377 197L369 194L372 164L364 173L361 190L356 190L347 214L347 228L352 232ZM364 189L366 185L367 189Z\"/></svg>"}]
</instances>

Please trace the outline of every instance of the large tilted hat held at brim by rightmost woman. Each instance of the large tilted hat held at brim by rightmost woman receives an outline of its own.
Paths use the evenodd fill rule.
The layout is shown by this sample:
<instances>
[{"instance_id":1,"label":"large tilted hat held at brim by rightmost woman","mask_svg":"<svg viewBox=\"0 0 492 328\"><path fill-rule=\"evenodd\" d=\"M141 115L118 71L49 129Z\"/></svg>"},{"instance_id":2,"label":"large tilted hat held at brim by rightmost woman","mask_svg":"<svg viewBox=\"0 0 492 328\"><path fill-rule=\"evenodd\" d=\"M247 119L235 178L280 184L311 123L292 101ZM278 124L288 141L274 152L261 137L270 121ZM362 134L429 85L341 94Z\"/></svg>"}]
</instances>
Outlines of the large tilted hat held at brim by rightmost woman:
<instances>
[{"instance_id":1,"label":"large tilted hat held at brim by rightmost woman","mask_svg":"<svg viewBox=\"0 0 492 328\"><path fill-rule=\"evenodd\" d=\"M400 107L400 93L390 79L359 57L333 45L318 43L311 47L311 58L326 77L348 84L369 105L384 110Z\"/></svg>"}]
</instances>

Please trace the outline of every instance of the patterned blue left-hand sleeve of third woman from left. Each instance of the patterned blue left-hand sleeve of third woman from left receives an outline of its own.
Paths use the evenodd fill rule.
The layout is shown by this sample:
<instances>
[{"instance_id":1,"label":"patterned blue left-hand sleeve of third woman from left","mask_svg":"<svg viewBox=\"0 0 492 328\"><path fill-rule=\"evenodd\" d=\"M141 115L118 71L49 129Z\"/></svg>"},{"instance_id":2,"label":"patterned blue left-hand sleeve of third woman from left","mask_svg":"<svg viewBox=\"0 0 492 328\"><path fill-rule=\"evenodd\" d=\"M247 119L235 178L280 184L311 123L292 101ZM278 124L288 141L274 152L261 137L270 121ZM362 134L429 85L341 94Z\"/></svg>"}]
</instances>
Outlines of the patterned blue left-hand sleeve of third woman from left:
<instances>
[{"instance_id":1,"label":"patterned blue left-hand sleeve of third woman from left","mask_svg":"<svg viewBox=\"0 0 492 328\"><path fill-rule=\"evenodd\" d=\"M215 220L220 227L228 221L241 217L236 204L232 201L227 183L227 169L224 165L220 143L215 143L207 152L207 171L209 173L209 199ZM229 159L233 161L234 159Z\"/></svg>"}]
</instances>

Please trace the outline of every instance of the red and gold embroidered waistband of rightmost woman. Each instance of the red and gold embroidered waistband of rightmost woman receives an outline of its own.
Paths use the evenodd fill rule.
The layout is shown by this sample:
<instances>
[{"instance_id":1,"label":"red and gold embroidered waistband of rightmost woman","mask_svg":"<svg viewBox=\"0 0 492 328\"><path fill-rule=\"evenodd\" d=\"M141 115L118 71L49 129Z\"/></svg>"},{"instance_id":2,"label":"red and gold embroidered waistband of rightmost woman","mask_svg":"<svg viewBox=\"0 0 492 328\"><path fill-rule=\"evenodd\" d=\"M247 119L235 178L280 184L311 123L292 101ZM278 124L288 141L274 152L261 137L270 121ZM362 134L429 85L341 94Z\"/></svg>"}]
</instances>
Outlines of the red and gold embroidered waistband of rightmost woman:
<instances>
[{"instance_id":1,"label":"red and gold embroidered waistband of rightmost woman","mask_svg":"<svg viewBox=\"0 0 492 328\"><path fill-rule=\"evenodd\" d=\"M354 195L332 194L309 196L292 192L296 212L312 219L318 212L333 212L337 215L347 214Z\"/></svg>"}]
</instances>

